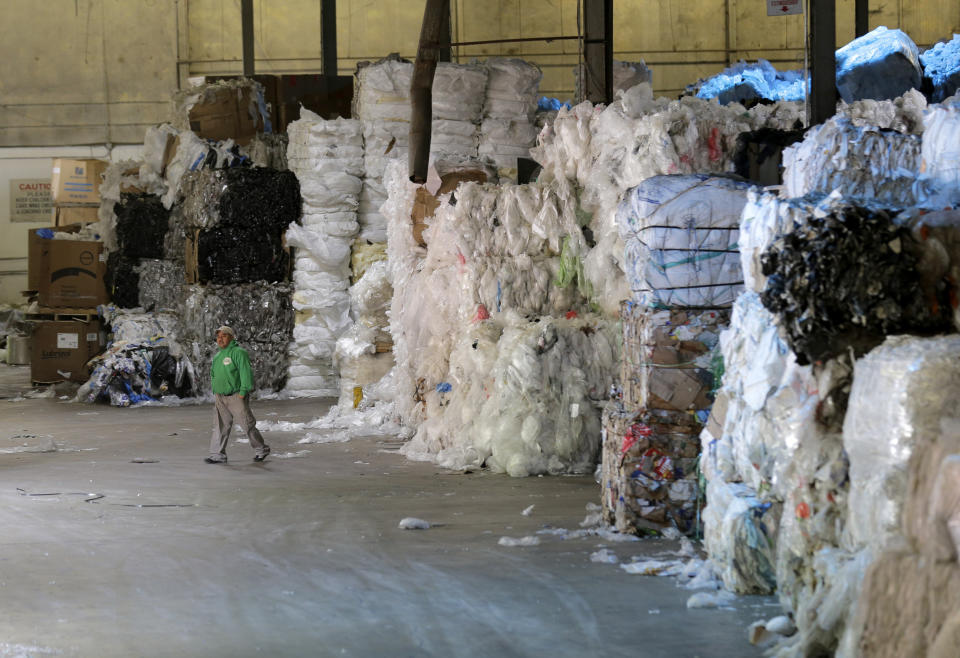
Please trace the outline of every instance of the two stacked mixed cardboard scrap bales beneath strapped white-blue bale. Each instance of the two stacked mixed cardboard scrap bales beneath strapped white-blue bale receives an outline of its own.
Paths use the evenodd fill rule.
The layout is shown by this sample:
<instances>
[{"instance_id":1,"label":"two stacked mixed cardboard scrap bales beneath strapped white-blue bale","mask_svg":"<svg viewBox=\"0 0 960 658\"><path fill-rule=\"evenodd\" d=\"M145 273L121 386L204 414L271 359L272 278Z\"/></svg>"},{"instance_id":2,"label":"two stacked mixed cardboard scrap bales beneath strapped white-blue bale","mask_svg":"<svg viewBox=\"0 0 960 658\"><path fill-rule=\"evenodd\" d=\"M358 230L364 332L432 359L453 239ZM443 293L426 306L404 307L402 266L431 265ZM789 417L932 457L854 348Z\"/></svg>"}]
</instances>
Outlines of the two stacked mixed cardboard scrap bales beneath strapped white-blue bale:
<instances>
[{"instance_id":1,"label":"two stacked mixed cardboard scrap bales beneath strapped white-blue bale","mask_svg":"<svg viewBox=\"0 0 960 658\"><path fill-rule=\"evenodd\" d=\"M621 304L622 401L603 415L603 511L621 532L696 529L700 431L729 310Z\"/></svg>"}]
</instances>

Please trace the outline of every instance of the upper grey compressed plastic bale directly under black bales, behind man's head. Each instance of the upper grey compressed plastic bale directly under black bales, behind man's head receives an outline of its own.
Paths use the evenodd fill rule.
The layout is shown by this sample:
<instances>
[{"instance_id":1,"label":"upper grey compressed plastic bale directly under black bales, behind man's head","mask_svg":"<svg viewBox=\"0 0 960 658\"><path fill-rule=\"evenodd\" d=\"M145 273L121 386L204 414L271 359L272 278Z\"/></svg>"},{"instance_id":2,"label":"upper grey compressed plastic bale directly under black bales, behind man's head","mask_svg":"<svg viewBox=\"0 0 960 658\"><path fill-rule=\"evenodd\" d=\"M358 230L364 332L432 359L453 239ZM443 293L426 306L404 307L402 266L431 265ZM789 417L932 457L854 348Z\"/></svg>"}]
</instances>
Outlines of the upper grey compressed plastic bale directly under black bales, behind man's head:
<instances>
[{"instance_id":1,"label":"upper grey compressed plastic bale directly under black bales, behind man's head","mask_svg":"<svg viewBox=\"0 0 960 658\"><path fill-rule=\"evenodd\" d=\"M178 310L181 334L197 341L213 342L222 325L233 328L241 345L256 341L285 346L293 332L289 283L185 286Z\"/></svg>"}]
</instances>

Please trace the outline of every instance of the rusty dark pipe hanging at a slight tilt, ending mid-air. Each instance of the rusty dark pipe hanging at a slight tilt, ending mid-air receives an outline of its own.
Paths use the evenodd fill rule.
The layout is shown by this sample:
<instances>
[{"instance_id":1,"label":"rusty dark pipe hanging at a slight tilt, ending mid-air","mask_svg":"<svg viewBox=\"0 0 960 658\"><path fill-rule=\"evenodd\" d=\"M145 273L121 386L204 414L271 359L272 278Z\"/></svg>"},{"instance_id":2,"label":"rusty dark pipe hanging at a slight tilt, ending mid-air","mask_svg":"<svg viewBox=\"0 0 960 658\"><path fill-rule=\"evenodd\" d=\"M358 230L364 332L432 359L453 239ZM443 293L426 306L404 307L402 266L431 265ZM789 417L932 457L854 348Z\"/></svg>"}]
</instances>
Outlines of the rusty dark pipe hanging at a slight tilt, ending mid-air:
<instances>
[{"instance_id":1,"label":"rusty dark pipe hanging at a slight tilt, ending mid-air","mask_svg":"<svg viewBox=\"0 0 960 658\"><path fill-rule=\"evenodd\" d=\"M430 128L433 122L433 74L437 70L443 15L449 25L450 0L427 0L420 27L420 45L410 81L410 180L425 183L430 164Z\"/></svg>"}]
</instances>

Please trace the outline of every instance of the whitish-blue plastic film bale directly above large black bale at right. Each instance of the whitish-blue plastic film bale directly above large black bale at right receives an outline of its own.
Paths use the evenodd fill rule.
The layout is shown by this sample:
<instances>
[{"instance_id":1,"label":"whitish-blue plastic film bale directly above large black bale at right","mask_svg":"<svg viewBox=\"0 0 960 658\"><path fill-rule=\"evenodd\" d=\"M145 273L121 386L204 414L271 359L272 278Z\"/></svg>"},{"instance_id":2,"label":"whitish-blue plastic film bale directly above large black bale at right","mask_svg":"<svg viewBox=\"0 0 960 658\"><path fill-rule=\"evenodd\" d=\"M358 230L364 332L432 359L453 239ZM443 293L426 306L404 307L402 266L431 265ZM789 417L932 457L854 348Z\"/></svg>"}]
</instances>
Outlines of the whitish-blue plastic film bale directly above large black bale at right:
<instances>
[{"instance_id":1,"label":"whitish-blue plastic film bale directly above large black bale at right","mask_svg":"<svg viewBox=\"0 0 960 658\"><path fill-rule=\"evenodd\" d=\"M915 135L858 127L833 117L811 128L802 142L783 151L786 198L811 192L915 205L929 194L918 181L921 140Z\"/></svg>"}]
</instances>

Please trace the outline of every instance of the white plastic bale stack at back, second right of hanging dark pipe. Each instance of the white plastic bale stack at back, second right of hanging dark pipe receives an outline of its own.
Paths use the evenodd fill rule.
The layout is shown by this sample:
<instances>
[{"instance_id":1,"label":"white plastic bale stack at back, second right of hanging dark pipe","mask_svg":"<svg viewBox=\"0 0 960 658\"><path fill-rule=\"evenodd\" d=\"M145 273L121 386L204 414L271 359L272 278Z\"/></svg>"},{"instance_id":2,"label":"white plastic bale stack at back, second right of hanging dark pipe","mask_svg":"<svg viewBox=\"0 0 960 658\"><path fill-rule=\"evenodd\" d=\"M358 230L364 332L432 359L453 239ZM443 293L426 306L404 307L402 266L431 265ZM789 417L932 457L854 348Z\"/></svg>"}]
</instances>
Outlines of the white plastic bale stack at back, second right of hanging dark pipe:
<instances>
[{"instance_id":1,"label":"white plastic bale stack at back, second right of hanging dark pipe","mask_svg":"<svg viewBox=\"0 0 960 658\"><path fill-rule=\"evenodd\" d=\"M529 158L536 145L539 130L533 118L543 74L534 64L519 59L491 58L486 69L478 153L492 162L501 176L515 180L517 158Z\"/></svg>"}]
</instances>

